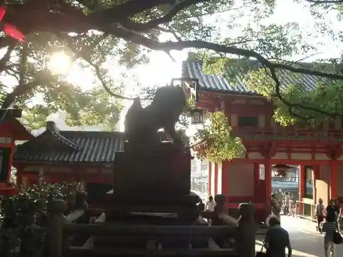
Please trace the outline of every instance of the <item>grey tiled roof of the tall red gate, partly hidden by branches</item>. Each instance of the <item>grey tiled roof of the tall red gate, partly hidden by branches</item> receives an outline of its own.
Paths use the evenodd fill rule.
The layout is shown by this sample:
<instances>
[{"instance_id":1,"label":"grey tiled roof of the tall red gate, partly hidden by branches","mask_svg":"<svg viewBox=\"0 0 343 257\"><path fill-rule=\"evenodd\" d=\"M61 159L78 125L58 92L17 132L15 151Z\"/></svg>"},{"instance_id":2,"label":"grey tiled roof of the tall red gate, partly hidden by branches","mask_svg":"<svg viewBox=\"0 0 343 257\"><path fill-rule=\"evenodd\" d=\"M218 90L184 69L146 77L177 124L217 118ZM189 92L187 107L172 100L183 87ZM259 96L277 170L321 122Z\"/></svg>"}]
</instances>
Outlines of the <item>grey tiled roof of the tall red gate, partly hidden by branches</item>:
<instances>
[{"instance_id":1,"label":"grey tiled roof of the tall red gate, partly hidden by branches","mask_svg":"<svg viewBox=\"0 0 343 257\"><path fill-rule=\"evenodd\" d=\"M259 62L250 60L250 65L261 66ZM309 66L309 64L304 64ZM226 66L226 74L237 74L239 66ZM198 60L187 60L182 63L182 77L191 77L199 79L200 89L206 91L215 91L218 93L239 93L256 95L255 91L248 90L243 79L235 75L235 84L231 83L224 76L205 74L202 71L202 64ZM287 87L289 84L304 84L307 90L314 89L317 79L313 75L304 75L300 73L292 73L286 70L279 70L279 79L281 86Z\"/></svg>"}]
</instances>

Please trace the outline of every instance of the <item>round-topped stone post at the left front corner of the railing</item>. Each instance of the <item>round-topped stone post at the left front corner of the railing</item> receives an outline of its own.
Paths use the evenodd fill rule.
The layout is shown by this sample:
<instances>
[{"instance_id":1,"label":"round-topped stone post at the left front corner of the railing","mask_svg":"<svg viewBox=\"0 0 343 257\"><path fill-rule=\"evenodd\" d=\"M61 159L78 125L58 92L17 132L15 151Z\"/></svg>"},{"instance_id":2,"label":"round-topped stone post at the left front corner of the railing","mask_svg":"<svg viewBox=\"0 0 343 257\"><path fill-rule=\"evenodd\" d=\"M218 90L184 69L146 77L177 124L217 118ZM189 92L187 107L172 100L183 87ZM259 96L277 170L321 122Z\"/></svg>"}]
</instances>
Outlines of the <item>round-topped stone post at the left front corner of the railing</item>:
<instances>
[{"instance_id":1,"label":"round-topped stone post at the left front corner of the railing","mask_svg":"<svg viewBox=\"0 0 343 257\"><path fill-rule=\"evenodd\" d=\"M63 225L66 218L63 213L67 210L67 204L62 199L54 199L49 202L49 223L47 252L49 257L62 257Z\"/></svg>"}]
</instances>

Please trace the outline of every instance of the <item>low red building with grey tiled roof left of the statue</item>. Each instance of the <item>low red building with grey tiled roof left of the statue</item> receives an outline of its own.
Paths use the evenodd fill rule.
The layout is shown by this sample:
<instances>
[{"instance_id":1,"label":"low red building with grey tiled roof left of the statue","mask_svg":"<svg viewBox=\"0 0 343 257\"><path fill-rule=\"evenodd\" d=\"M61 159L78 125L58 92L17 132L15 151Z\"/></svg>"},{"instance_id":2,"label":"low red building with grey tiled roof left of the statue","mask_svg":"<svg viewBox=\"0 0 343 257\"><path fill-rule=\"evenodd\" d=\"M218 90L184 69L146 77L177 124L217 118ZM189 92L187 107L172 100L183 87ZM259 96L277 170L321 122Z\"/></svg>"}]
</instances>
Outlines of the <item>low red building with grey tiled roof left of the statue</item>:
<instances>
[{"instance_id":1,"label":"low red building with grey tiled roof left of the statue","mask_svg":"<svg viewBox=\"0 0 343 257\"><path fill-rule=\"evenodd\" d=\"M112 189L113 160L123 150L123 133L59 130L48 121L45 132L16 147L17 184L81 182L90 204Z\"/></svg>"}]
</instances>

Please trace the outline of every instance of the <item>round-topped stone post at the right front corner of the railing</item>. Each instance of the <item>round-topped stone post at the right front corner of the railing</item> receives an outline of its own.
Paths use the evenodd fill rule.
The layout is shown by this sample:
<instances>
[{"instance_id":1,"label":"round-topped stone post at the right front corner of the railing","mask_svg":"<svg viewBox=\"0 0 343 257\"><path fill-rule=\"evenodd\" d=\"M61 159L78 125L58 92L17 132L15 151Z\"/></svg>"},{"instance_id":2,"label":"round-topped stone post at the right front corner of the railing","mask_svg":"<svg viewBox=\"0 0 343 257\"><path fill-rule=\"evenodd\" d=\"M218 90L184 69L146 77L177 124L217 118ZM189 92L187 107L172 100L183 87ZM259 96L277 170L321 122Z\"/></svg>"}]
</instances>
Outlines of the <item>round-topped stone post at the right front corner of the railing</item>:
<instances>
[{"instance_id":1,"label":"round-topped stone post at the right front corner of the railing","mask_svg":"<svg viewBox=\"0 0 343 257\"><path fill-rule=\"evenodd\" d=\"M255 257L255 223L254 204L239 204L237 250L241 257Z\"/></svg>"}]
</instances>

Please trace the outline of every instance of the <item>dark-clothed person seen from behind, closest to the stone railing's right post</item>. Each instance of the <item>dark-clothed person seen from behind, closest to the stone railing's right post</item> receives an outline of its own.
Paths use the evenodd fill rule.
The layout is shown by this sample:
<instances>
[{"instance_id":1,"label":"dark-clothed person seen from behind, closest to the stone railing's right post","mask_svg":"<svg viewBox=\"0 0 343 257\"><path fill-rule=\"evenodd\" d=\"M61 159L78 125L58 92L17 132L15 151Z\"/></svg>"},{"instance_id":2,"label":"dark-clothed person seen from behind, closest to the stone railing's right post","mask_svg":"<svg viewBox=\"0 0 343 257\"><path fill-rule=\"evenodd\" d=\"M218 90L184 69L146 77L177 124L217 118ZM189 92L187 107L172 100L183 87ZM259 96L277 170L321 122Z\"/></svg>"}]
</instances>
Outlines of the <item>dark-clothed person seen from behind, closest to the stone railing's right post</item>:
<instances>
[{"instance_id":1,"label":"dark-clothed person seen from behind, closest to the stone railing's right post","mask_svg":"<svg viewBox=\"0 0 343 257\"><path fill-rule=\"evenodd\" d=\"M287 230L281 228L280 219L271 216L267 221L269 228L265 234L265 249L268 257L285 257L285 249L288 249L288 257L292 256L292 247Z\"/></svg>"}]
</instances>

